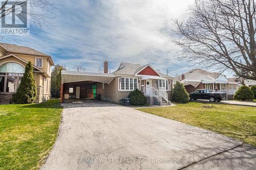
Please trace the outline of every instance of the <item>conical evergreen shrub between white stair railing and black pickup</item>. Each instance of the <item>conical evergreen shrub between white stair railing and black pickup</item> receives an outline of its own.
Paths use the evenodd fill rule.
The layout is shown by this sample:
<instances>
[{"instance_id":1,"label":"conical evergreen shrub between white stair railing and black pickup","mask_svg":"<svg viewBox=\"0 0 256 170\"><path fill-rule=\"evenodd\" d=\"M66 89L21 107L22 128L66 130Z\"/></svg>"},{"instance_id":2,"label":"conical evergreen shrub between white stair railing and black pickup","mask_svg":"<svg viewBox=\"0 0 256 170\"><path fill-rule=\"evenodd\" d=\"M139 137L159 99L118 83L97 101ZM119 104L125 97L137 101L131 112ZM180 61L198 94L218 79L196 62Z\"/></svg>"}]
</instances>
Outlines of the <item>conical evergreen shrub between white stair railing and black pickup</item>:
<instances>
[{"instance_id":1,"label":"conical evergreen shrub between white stair railing and black pickup","mask_svg":"<svg viewBox=\"0 0 256 170\"><path fill-rule=\"evenodd\" d=\"M172 99L174 102L187 103L189 94L185 89L184 85L177 81L173 88Z\"/></svg>"}]
</instances>

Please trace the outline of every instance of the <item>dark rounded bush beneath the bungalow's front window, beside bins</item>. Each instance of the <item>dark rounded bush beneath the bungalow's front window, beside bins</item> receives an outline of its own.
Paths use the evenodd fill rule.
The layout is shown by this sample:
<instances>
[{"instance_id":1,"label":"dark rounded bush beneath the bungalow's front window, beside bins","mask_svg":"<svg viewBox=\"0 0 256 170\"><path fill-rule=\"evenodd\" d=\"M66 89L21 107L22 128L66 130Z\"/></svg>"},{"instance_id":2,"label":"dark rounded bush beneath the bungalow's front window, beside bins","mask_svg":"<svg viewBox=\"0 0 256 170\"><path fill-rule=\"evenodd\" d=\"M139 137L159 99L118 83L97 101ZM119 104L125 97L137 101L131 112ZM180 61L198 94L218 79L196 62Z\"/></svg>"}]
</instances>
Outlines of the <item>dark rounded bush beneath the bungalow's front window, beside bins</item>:
<instances>
[{"instance_id":1,"label":"dark rounded bush beneath the bungalow's front window, beside bins","mask_svg":"<svg viewBox=\"0 0 256 170\"><path fill-rule=\"evenodd\" d=\"M131 91L127 98L131 98L131 105L145 105L146 104L146 97L138 89Z\"/></svg>"}]
</instances>

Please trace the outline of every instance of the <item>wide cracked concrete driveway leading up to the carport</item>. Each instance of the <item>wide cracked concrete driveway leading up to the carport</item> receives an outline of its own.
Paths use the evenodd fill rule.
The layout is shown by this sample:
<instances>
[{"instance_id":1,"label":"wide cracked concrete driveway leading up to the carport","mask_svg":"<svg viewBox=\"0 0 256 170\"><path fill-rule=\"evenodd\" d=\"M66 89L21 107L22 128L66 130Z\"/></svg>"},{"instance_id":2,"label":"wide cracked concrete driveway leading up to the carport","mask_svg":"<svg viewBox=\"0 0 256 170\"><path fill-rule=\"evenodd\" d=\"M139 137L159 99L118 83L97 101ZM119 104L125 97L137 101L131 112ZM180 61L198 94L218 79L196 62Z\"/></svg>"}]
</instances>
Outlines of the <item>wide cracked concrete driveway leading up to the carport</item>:
<instances>
[{"instance_id":1,"label":"wide cracked concrete driveway leading up to the carport","mask_svg":"<svg viewBox=\"0 0 256 170\"><path fill-rule=\"evenodd\" d=\"M41 169L253 169L256 149L223 135L106 102L63 104Z\"/></svg>"}]
</instances>

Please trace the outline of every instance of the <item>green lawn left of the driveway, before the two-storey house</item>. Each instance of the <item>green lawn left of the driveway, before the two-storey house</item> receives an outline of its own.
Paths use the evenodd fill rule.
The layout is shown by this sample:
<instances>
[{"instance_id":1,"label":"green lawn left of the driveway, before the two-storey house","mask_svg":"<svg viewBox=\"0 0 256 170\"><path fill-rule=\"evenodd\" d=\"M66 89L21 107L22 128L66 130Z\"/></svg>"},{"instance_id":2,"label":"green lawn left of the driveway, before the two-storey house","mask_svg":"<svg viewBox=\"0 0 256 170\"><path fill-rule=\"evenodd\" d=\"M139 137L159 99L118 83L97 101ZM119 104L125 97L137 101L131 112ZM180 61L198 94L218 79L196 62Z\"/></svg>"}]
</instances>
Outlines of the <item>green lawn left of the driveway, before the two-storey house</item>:
<instances>
[{"instance_id":1,"label":"green lawn left of the driveway, before the two-storey house","mask_svg":"<svg viewBox=\"0 0 256 170\"><path fill-rule=\"evenodd\" d=\"M0 105L0 169L38 169L57 137L62 107Z\"/></svg>"}]
</instances>

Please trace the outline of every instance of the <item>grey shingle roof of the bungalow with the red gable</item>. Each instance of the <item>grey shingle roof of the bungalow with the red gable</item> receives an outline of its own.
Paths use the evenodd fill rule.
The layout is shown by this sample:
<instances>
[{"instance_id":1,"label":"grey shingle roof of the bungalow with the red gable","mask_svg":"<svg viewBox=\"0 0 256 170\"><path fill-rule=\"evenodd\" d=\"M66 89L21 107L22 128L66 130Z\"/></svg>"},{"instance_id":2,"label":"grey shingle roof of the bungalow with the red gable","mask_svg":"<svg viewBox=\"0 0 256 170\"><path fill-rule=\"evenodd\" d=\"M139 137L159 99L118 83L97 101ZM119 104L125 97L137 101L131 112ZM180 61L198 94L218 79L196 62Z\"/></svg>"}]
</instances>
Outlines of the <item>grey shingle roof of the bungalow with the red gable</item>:
<instances>
[{"instance_id":1,"label":"grey shingle roof of the bungalow with the red gable","mask_svg":"<svg viewBox=\"0 0 256 170\"><path fill-rule=\"evenodd\" d=\"M146 67L148 65L150 65L150 64L140 65L140 64L134 64L134 63L121 62L119 67L117 68L117 70L112 72L112 74L136 75L141 69L143 69L144 67ZM173 77L162 74L159 71L156 71L156 72L157 72L157 74L161 75L161 77L163 77L163 78L173 79Z\"/></svg>"}]
</instances>

